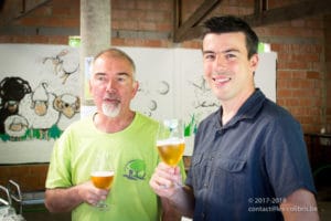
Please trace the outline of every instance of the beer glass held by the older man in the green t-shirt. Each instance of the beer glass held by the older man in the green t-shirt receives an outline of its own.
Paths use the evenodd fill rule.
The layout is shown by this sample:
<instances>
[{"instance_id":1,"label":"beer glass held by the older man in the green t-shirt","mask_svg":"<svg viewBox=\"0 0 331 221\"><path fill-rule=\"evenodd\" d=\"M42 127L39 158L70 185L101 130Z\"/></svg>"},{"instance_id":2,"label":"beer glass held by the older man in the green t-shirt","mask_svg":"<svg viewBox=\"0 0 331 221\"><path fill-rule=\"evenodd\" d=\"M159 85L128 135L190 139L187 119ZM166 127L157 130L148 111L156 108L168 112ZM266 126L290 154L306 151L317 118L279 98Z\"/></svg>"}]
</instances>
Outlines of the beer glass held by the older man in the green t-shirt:
<instances>
[{"instance_id":1,"label":"beer glass held by the older man in the green t-shirt","mask_svg":"<svg viewBox=\"0 0 331 221\"><path fill-rule=\"evenodd\" d=\"M113 185L115 170L110 161L110 156L107 152L99 152L90 171L90 180L96 188L109 189ZM96 207L99 210L107 210L108 204L105 200L100 200Z\"/></svg>"}]
</instances>

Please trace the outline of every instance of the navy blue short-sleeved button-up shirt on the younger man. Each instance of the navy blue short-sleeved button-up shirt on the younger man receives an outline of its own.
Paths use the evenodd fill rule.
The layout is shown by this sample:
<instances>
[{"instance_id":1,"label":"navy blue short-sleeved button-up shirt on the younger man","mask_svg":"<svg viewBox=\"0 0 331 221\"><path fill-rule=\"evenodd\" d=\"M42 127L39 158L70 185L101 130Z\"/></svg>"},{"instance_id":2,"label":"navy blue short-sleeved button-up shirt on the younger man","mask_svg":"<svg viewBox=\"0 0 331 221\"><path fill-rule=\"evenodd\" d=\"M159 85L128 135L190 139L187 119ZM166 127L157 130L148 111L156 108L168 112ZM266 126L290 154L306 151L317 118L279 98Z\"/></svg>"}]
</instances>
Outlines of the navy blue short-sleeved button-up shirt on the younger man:
<instances>
[{"instance_id":1,"label":"navy blue short-sleeved button-up shirt on the younger man","mask_svg":"<svg viewBox=\"0 0 331 221\"><path fill-rule=\"evenodd\" d=\"M222 107L201 122L186 185L194 220L282 220L279 203L299 188L316 192L300 124L256 90L221 124Z\"/></svg>"}]
</instances>

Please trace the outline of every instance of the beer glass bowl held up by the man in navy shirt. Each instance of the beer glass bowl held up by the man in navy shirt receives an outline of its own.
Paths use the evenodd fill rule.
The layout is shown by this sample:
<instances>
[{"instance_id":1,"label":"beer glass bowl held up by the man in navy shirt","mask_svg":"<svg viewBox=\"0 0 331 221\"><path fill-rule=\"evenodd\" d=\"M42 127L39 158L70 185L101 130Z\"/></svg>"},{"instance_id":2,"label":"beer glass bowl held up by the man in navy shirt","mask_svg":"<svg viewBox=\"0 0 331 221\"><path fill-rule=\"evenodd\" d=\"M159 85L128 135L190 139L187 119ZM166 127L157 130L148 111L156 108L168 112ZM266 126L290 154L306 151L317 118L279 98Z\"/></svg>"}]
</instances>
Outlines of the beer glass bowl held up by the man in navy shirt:
<instances>
[{"instance_id":1,"label":"beer glass bowl held up by the man in navy shirt","mask_svg":"<svg viewBox=\"0 0 331 221\"><path fill-rule=\"evenodd\" d=\"M184 152L184 127L180 119L164 119L160 123L157 135L157 147L160 158L175 167Z\"/></svg>"}]
</instances>

